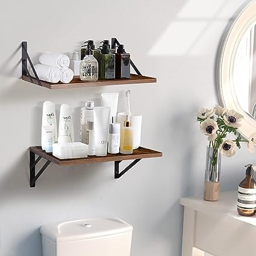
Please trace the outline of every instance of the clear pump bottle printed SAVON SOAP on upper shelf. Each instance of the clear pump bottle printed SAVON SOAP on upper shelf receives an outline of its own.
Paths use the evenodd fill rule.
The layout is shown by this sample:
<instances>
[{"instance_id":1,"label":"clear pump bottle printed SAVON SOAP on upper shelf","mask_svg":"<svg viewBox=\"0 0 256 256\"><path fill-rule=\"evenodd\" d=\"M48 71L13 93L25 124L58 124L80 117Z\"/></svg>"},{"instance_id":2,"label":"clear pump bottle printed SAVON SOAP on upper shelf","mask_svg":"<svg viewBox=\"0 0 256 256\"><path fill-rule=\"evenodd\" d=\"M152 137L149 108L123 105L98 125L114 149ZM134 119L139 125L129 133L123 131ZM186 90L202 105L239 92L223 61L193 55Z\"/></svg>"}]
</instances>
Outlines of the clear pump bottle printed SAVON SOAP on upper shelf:
<instances>
[{"instance_id":1,"label":"clear pump bottle printed SAVON SOAP on upper shelf","mask_svg":"<svg viewBox=\"0 0 256 256\"><path fill-rule=\"evenodd\" d=\"M91 45L87 45L86 55L80 64L80 79L83 81L98 80L98 61L93 57Z\"/></svg>"}]
</instances>

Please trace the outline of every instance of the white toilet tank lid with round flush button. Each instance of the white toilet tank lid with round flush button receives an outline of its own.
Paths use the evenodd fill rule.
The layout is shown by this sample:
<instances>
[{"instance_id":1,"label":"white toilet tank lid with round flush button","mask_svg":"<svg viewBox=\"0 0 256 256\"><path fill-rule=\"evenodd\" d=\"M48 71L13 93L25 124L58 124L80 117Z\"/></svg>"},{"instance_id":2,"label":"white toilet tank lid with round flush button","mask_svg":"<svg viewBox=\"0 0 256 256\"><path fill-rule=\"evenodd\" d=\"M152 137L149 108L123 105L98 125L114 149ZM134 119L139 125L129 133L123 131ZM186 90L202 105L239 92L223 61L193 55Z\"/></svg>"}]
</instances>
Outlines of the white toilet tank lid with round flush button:
<instances>
[{"instance_id":1,"label":"white toilet tank lid with round flush button","mask_svg":"<svg viewBox=\"0 0 256 256\"><path fill-rule=\"evenodd\" d=\"M70 242L132 231L133 226L117 218L81 219L41 226L40 233L56 243Z\"/></svg>"}]
</instances>

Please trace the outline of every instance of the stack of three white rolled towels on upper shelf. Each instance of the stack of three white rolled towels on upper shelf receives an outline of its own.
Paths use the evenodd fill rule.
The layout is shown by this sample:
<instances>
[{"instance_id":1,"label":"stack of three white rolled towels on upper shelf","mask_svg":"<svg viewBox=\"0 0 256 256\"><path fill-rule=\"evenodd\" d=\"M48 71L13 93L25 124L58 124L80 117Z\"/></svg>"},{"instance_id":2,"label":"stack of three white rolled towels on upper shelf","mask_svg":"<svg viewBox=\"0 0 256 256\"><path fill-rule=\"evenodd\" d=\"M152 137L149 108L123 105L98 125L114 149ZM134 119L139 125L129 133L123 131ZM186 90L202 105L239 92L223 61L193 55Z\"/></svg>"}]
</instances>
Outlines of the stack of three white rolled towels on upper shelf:
<instances>
[{"instance_id":1,"label":"stack of three white rolled towels on upper shelf","mask_svg":"<svg viewBox=\"0 0 256 256\"><path fill-rule=\"evenodd\" d=\"M44 52L39 57L40 64L34 65L40 80L51 83L70 83L73 79L73 71L69 69L69 57L64 54L55 54L53 52ZM30 74L34 72L30 69Z\"/></svg>"}]
</instances>

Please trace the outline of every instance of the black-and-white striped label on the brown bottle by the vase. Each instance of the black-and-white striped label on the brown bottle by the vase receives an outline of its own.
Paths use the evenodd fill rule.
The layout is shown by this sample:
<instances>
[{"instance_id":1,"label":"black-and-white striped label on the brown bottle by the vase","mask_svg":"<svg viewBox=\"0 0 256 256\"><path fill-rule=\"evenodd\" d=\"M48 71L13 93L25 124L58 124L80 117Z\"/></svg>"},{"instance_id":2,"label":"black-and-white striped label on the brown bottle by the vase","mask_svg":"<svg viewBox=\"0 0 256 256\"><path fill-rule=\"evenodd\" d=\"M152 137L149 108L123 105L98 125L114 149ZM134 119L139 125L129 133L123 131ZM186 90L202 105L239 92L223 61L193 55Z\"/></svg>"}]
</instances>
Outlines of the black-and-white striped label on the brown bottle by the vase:
<instances>
[{"instance_id":1,"label":"black-and-white striped label on the brown bottle by the vase","mask_svg":"<svg viewBox=\"0 0 256 256\"><path fill-rule=\"evenodd\" d=\"M244 189L243 187L239 187L237 208L243 210L256 210L256 189Z\"/></svg>"}]
</instances>

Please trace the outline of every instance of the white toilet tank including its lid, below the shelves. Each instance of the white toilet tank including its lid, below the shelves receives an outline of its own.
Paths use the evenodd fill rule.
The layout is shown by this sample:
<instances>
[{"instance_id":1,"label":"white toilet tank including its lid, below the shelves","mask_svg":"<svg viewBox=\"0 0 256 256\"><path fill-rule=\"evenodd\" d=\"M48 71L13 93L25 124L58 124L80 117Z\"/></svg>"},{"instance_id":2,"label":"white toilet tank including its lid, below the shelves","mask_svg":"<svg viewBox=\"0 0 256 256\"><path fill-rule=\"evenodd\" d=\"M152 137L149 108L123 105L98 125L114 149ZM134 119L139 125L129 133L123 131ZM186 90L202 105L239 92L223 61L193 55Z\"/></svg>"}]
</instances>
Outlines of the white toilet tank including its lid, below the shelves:
<instances>
[{"instance_id":1,"label":"white toilet tank including its lid, below the shelves","mask_svg":"<svg viewBox=\"0 0 256 256\"><path fill-rule=\"evenodd\" d=\"M133 226L120 219L82 219L40 228L43 256L130 256Z\"/></svg>"}]
</instances>

